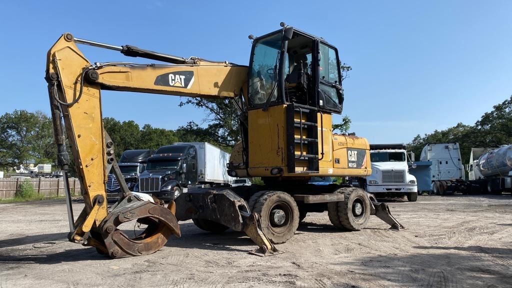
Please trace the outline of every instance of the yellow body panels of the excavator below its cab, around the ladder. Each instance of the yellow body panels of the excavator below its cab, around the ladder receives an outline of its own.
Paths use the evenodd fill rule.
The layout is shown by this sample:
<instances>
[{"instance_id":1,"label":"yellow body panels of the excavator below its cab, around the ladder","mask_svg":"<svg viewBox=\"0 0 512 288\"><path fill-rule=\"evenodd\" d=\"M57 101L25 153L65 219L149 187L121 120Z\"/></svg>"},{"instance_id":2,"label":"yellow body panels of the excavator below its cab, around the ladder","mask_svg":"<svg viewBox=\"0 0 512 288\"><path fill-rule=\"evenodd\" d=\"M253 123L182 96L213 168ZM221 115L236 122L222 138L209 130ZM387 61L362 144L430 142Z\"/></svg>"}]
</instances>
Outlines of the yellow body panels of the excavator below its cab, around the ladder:
<instances>
[{"instance_id":1,"label":"yellow body panels of the excavator below its cab, around the ladder","mask_svg":"<svg viewBox=\"0 0 512 288\"><path fill-rule=\"evenodd\" d=\"M279 176L311 177L311 176L359 176L371 174L370 146L365 138L336 135L332 133L332 115L330 113L317 113L318 124L318 159L319 173L304 173L308 170L307 160L295 161L295 173L288 173L286 154L286 127L293 123L286 123L286 105L269 107L249 111L249 168L250 176L268 177L272 168L282 168L283 174ZM295 112L294 119L299 121L301 115ZM302 121L310 122L306 114ZM294 128L295 138L301 137L300 128ZM302 137L308 138L307 130L303 129ZM301 146L294 143L295 155L301 154ZM303 143L302 154L307 154L307 146ZM366 159L362 168L348 167L348 148L366 151ZM322 155L323 151L323 155ZM240 157L238 157L240 158ZM335 158L339 164L335 164ZM237 159L240 161L240 159ZM301 173L303 172L303 173Z\"/></svg>"}]
</instances>

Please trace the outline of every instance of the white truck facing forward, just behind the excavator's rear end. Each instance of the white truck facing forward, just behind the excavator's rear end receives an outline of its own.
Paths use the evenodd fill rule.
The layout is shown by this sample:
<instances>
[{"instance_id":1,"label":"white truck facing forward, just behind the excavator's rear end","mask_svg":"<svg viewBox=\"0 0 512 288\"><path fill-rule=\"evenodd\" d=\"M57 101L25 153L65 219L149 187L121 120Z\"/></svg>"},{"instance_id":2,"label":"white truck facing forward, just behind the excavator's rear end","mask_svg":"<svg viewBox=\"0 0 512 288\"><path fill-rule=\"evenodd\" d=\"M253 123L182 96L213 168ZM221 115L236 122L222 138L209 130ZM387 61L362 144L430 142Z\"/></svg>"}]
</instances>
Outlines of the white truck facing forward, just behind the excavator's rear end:
<instances>
[{"instance_id":1,"label":"white truck facing forward, just behind the excavator's rear end","mask_svg":"<svg viewBox=\"0 0 512 288\"><path fill-rule=\"evenodd\" d=\"M409 173L408 154L403 144L371 144L372 174L366 178L366 191L376 197L418 199L416 177Z\"/></svg>"}]
</instances>

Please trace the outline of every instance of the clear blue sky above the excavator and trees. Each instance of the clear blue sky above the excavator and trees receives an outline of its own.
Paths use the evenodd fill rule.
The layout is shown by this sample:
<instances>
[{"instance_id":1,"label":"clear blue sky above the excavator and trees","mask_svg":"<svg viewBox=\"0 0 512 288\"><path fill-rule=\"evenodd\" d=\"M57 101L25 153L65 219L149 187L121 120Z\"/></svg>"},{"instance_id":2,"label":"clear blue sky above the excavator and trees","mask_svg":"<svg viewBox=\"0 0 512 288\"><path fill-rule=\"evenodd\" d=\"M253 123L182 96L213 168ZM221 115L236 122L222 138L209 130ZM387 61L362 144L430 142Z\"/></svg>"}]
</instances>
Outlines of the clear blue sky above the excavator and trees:
<instances>
[{"instance_id":1,"label":"clear blue sky above the excavator and trees","mask_svg":"<svg viewBox=\"0 0 512 288\"><path fill-rule=\"evenodd\" d=\"M281 21L324 37L353 67L344 115L371 143L409 142L480 116L512 94L510 1L17 1L3 3L0 114L49 114L48 49L60 34L248 64ZM313 6L314 5L314 6ZM136 60L79 47L90 61ZM151 63L151 60L147 62ZM103 116L176 129L204 112L180 97L105 91ZM334 120L339 121L340 116Z\"/></svg>"}]
</instances>

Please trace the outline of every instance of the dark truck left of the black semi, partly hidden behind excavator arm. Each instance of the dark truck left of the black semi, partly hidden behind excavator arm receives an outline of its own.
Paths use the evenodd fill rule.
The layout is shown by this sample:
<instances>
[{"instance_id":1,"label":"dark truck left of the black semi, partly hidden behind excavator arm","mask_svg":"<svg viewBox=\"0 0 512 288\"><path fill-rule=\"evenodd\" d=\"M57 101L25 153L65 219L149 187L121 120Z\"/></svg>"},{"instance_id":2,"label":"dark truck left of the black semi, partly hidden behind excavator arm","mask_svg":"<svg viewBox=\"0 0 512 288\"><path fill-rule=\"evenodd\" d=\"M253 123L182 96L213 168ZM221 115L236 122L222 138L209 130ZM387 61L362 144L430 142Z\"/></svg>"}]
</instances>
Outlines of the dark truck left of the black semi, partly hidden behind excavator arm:
<instances>
[{"instance_id":1,"label":"dark truck left of the black semi, partly hidden behind excavator arm","mask_svg":"<svg viewBox=\"0 0 512 288\"><path fill-rule=\"evenodd\" d=\"M146 170L147 158L154 153L155 150L126 150L121 155L118 165L130 191L133 191L138 183L139 175ZM108 200L118 200L120 193L119 182L114 174L110 173L106 180L106 197Z\"/></svg>"}]
</instances>

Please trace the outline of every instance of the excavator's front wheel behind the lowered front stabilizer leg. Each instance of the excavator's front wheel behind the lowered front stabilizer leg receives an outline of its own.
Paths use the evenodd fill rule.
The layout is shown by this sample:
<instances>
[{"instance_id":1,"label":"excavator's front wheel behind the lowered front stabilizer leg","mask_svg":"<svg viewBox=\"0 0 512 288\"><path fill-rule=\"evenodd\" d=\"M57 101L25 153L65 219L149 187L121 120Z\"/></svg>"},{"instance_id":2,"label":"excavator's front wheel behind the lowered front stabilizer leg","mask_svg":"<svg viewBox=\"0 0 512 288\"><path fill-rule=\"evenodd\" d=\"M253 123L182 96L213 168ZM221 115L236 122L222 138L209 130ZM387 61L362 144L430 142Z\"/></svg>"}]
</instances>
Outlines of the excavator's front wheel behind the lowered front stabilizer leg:
<instances>
[{"instance_id":1,"label":"excavator's front wheel behind the lowered front stabilizer leg","mask_svg":"<svg viewBox=\"0 0 512 288\"><path fill-rule=\"evenodd\" d=\"M252 212L260 214L263 232L274 244L288 241L297 230L298 207L288 193L266 191L254 203Z\"/></svg>"}]
</instances>

